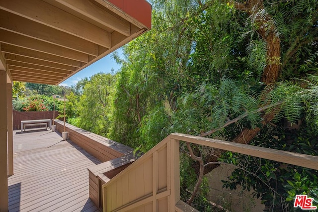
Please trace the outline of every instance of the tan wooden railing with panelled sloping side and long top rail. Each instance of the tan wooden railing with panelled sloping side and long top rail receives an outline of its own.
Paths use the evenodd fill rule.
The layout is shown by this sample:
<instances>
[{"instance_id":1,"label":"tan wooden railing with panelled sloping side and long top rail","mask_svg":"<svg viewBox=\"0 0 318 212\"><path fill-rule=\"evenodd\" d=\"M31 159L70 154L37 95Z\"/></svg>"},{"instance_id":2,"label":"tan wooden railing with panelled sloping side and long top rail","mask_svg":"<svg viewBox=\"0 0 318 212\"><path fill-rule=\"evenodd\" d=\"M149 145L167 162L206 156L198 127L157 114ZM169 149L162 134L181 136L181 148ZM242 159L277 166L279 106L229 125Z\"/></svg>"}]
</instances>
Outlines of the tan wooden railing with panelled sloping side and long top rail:
<instances>
[{"instance_id":1,"label":"tan wooden railing with panelled sloping side and long top rail","mask_svg":"<svg viewBox=\"0 0 318 212\"><path fill-rule=\"evenodd\" d=\"M179 141L318 170L318 157L172 133L102 186L104 212L196 211L180 201Z\"/></svg>"}]
</instances>

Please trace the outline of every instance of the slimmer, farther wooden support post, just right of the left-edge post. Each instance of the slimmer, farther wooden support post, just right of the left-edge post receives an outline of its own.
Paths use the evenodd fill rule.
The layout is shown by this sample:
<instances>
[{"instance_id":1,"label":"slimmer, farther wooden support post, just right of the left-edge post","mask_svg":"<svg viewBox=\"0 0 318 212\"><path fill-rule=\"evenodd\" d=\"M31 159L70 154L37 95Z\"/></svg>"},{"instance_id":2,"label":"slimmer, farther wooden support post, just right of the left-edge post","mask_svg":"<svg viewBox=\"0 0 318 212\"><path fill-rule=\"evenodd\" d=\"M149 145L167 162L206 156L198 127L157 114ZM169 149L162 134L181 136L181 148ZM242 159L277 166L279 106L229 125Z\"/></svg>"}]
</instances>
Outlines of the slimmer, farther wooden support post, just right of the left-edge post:
<instances>
[{"instance_id":1,"label":"slimmer, farther wooden support post, just right of the left-edge post","mask_svg":"<svg viewBox=\"0 0 318 212\"><path fill-rule=\"evenodd\" d=\"M9 82L8 82L9 81ZM6 83L7 99L7 129L8 129L8 176L13 175L13 111L12 111L12 82L7 77Z\"/></svg>"}]
</instances>

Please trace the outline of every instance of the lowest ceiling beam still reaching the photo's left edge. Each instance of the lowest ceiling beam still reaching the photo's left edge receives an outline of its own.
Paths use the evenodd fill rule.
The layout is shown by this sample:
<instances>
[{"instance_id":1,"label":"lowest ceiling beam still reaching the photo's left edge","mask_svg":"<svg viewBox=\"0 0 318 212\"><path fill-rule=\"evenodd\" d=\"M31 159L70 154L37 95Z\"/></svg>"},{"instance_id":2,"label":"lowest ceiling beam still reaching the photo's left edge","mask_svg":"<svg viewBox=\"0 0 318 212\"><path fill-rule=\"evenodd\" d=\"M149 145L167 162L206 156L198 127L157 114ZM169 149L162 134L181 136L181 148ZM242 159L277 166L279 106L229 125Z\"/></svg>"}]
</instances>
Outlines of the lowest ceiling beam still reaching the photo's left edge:
<instances>
[{"instance_id":1,"label":"lowest ceiling beam still reaching the photo's left edge","mask_svg":"<svg viewBox=\"0 0 318 212\"><path fill-rule=\"evenodd\" d=\"M16 55L21 55L25 57L30 57L34 59L39 59L39 60L44 60L44 61L49 61L49 62L54 62L54 63L59 63L59 64L64 64L68 66L74 66L74 67L81 67L81 62L76 61L76 60L71 60L67 59L64 57L59 57L51 54L45 54L42 52L30 50L30 49L25 49L17 46L12 46L8 44L1 44L2 47L2 52L5 53L11 53L11 54L16 54Z\"/></svg>"}]
</instances>

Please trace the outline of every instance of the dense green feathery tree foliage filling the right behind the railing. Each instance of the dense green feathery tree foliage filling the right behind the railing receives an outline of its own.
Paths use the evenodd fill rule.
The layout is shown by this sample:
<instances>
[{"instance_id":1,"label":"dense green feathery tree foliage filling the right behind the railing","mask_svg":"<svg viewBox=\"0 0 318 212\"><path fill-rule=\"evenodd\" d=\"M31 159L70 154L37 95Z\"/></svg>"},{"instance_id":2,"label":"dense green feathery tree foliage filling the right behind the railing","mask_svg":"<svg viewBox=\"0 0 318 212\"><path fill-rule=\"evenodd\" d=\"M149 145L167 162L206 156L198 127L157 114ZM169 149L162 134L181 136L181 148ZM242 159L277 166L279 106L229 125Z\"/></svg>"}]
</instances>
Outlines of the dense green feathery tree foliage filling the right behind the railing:
<instances>
[{"instance_id":1,"label":"dense green feathery tree foliage filling the right behind the railing","mask_svg":"<svg viewBox=\"0 0 318 212\"><path fill-rule=\"evenodd\" d=\"M121 69L73 87L71 123L142 151L171 132L183 132L318 155L317 0L152 4L152 30L124 46L124 58L113 55ZM198 164L182 148L181 191L187 201ZM317 204L317 171L193 149L205 163L236 166L225 186L254 189L267 211L293 210L296 194ZM192 204L200 211L211 210L206 186L203 179Z\"/></svg>"}]
</instances>

